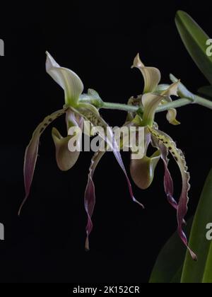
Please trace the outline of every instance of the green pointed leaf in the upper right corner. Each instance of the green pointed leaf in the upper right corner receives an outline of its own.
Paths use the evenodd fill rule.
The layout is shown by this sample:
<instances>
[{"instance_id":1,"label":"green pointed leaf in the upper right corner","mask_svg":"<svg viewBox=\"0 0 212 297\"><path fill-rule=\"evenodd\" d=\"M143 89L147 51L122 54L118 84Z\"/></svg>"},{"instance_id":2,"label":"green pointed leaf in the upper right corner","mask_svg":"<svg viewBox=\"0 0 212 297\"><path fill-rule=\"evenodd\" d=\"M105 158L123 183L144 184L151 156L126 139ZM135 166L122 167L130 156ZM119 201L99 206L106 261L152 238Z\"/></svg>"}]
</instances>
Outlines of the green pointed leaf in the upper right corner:
<instances>
[{"instance_id":1,"label":"green pointed leaf in the upper right corner","mask_svg":"<svg viewBox=\"0 0 212 297\"><path fill-rule=\"evenodd\" d=\"M177 11L175 23L187 51L204 76L212 84L212 56L206 54L208 35L184 11Z\"/></svg>"}]
</instances>

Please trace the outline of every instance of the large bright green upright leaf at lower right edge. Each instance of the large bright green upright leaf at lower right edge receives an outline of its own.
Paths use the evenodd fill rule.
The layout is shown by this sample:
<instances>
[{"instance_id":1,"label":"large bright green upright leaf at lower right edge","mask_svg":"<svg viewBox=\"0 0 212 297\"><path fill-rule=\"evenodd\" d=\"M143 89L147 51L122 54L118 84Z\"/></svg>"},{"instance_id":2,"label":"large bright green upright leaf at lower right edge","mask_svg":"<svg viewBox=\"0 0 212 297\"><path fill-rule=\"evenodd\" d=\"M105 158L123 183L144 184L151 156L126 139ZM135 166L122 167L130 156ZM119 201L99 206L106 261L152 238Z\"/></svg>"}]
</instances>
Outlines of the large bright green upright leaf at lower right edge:
<instances>
[{"instance_id":1,"label":"large bright green upright leaf at lower right edge","mask_svg":"<svg viewBox=\"0 0 212 297\"><path fill-rule=\"evenodd\" d=\"M212 283L212 241L206 238L208 223L212 223L212 170L199 200L189 240L189 246L196 252L198 262L194 262L187 253L182 283Z\"/></svg>"}]
</instances>

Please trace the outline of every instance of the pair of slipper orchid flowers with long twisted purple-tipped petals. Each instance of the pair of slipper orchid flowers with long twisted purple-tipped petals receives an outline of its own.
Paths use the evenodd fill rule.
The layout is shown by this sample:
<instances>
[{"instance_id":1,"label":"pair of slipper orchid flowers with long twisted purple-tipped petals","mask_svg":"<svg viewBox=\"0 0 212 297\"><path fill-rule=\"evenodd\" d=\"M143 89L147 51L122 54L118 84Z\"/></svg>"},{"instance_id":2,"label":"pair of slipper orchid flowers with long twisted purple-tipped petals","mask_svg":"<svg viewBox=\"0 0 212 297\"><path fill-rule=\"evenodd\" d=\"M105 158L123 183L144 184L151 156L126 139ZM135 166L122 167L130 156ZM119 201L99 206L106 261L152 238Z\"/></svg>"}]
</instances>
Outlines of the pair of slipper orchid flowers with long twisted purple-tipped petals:
<instances>
[{"instance_id":1,"label":"pair of slipper orchid flowers with long twisted purple-tipped petals","mask_svg":"<svg viewBox=\"0 0 212 297\"><path fill-rule=\"evenodd\" d=\"M166 85L162 87L160 83L160 71L154 67L144 66L141 62L139 54L135 57L132 67L136 67L141 71L144 79L143 94L139 95L137 98L130 98L128 105L136 105L139 107L139 112L129 112L126 117L126 122L124 125L126 127L144 127L144 148L143 158L136 159L131 158L130 163L130 173L131 177L136 183L136 185L141 189L146 189L151 185L154 177L155 167L158 164L160 158L163 160L165 175L164 175L164 187L165 193L167 195L168 202L177 210L177 223L178 223L178 233L179 237L182 239L184 245L187 246L192 258L196 260L196 255L188 247L187 237L183 231L183 225L185 223L184 217L187 214L187 204L189 201L189 173L187 171L187 164L184 155L179 148L177 148L175 141L172 140L170 136L161 132L158 129L158 124L155 122L155 111L159 105L163 105L172 101L171 96L177 96L177 90L179 86L179 81L172 83L170 86ZM100 126L103 129L109 129L111 136L113 137L112 129L107 125L105 120L100 116L99 110L102 106L102 100L98 93L92 89L88 90L87 94L83 93L83 83L81 79L70 69L59 66L53 57L47 52L46 60L46 70L47 73L52 76L54 81L56 81L61 88L64 89L65 93L65 105L61 110L52 113L45 117L45 120L41 122L30 140L30 144L25 151L25 161L24 161L24 181L25 181L25 199L20 206L20 210L25 203L25 200L30 194L30 187L33 181L33 175L35 171L35 164L37 161L37 151L40 141L40 136L44 132L45 128L49 126L57 117L61 115L66 115L66 126L67 132L70 127L80 127L83 128L84 121L89 121L93 127ZM167 120L170 124L179 124L176 120L177 112L175 109L170 109L167 111ZM122 168L124 175L126 176L126 181L129 186L129 193L131 199L134 202L138 202L133 194L131 182L126 173L124 163L122 161L122 156L120 150L123 148L123 144L117 149L117 143L113 139L106 138L105 134L99 135L105 141L105 144L109 146L117 162ZM72 136L67 133L66 137L61 136L56 128L52 128L52 139L56 148L56 160L59 169L69 170L78 160L79 151L69 151L68 143ZM77 141L81 141L80 135L75 135ZM147 156L148 146L153 146L155 148L155 153L152 156ZM86 250L89 250L88 237L93 228L92 215L95 206L95 185L93 182L93 174L95 168L97 167L100 159L104 155L104 151L95 152L88 173L88 183L86 186L84 202L85 209L88 214L88 223L86 226ZM168 154L171 154L179 166L180 173L182 175L182 192L179 197L179 202L173 197L173 182L168 170Z\"/></svg>"}]
</instances>

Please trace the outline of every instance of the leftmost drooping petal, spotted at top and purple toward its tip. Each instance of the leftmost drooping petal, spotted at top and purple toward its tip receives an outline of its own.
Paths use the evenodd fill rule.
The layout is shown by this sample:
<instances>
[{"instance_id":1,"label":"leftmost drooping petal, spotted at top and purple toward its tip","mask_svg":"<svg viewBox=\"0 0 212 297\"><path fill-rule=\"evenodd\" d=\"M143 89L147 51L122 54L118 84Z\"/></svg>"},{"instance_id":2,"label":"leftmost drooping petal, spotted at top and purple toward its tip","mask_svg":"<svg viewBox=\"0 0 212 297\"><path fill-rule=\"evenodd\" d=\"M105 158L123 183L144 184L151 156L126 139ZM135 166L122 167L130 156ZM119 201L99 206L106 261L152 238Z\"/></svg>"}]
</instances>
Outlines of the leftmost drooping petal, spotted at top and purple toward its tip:
<instances>
[{"instance_id":1,"label":"leftmost drooping petal, spotted at top and purple toward its tip","mask_svg":"<svg viewBox=\"0 0 212 297\"><path fill-rule=\"evenodd\" d=\"M64 113L68 110L65 107L63 110L58 110L57 112L52 113L52 115L48 115L35 129L33 133L33 137L30 140L30 144L28 144L25 150L25 157L24 157L24 167L23 167L23 175L24 175L24 183L25 183L25 199L23 200L22 204L20 205L20 209L18 211L18 215L20 215L20 211L25 203L26 199L30 194L30 187L33 182L33 175L35 171L35 164L37 161L37 152L38 146L40 141L40 136L42 132L45 131L46 127L52 123L52 121L56 120L57 117L64 115Z\"/></svg>"}]
</instances>

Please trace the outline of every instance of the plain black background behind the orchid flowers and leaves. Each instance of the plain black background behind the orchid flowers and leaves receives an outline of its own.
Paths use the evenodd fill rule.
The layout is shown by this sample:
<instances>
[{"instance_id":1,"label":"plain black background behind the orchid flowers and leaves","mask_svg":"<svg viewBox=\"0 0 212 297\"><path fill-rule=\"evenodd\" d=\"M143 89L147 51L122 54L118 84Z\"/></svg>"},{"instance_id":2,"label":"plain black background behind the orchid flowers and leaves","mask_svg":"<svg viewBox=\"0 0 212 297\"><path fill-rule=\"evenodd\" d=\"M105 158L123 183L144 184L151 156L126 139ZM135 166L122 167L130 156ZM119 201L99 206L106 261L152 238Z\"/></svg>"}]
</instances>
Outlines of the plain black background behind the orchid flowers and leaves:
<instances>
[{"instance_id":1,"label":"plain black background behind the orchid flowers and leaves","mask_svg":"<svg viewBox=\"0 0 212 297\"><path fill-rule=\"evenodd\" d=\"M144 3L145 2L145 3ZM45 50L81 77L85 91L94 88L103 100L126 103L143 89L139 71L130 66L137 52L156 66L163 83L170 72L191 91L207 84L184 49L175 27L175 13L187 11L212 35L209 1L73 1L11 4L1 10L0 57L1 144L0 241L1 282L147 282L158 252L177 228L167 204L160 163L151 188L134 194L146 209L131 202L123 173L112 153L95 172L97 203L84 251L86 212L83 193L92 153L81 153L68 173L57 168L51 129L43 134L30 198L20 218L24 197L23 156L33 129L64 104L64 94L45 73ZM123 124L124 112L102 111L111 125ZM182 124L172 127L165 113L160 129L170 134L187 157L192 175L188 217L194 214L211 168L211 111L187 106L178 112ZM64 119L54 126L65 133ZM128 170L129 154L123 153ZM170 161L179 196L181 180ZM173 255L174 256L174 255Z\"/></svg>"}]
</instances>

